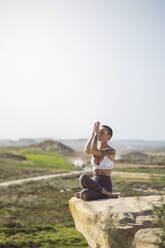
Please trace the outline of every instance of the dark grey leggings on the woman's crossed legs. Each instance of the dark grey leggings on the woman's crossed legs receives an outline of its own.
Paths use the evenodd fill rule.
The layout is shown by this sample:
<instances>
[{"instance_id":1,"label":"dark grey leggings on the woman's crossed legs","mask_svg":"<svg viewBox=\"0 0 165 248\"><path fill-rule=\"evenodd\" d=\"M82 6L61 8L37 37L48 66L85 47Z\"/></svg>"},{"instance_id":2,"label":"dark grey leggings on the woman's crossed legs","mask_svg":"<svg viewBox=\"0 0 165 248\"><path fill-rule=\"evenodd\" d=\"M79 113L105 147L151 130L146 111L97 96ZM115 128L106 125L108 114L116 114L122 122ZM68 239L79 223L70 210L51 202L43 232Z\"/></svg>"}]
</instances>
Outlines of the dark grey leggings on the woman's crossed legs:
<instances>
[{"instance_id":1,"label":"dark grey leggings on the woman's crossed legs","mask_svg":"<svg viewBox=\"0 0 165 248\"><path fill-rule=\"evenodd\" d=\"M112 193L112 182L110 176L94 174L93 178L88 175L82 174L79 177L80 184L83 189L80 191L80 198L89 201L107 198L102 194L102 188Z\"/></svg>"}]
</instances>

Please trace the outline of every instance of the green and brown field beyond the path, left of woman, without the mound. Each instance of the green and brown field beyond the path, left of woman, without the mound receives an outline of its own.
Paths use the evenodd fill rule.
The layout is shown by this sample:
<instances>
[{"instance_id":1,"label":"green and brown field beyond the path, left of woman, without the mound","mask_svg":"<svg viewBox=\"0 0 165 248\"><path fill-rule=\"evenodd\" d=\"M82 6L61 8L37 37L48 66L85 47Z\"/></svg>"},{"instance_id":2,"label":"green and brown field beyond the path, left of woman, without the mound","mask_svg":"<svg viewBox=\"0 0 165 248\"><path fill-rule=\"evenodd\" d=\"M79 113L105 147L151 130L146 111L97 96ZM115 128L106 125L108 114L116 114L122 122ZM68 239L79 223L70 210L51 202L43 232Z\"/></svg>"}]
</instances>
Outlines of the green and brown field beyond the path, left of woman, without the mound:
<instances>
[{"instance_id":1,"label":"green and brown field beyond the path, left of woman, without the mound","mask_svg":"<svg viewBox=\"0 0 165 248\"><path fill-rule=\"evenodd\" d=\"M22 161L0 158L0 182L75 170L75 166L67 161L66 156L56 152L19 147L1 148L0 153L17 154L26 158Z\"/></svg>"}]
</instances>

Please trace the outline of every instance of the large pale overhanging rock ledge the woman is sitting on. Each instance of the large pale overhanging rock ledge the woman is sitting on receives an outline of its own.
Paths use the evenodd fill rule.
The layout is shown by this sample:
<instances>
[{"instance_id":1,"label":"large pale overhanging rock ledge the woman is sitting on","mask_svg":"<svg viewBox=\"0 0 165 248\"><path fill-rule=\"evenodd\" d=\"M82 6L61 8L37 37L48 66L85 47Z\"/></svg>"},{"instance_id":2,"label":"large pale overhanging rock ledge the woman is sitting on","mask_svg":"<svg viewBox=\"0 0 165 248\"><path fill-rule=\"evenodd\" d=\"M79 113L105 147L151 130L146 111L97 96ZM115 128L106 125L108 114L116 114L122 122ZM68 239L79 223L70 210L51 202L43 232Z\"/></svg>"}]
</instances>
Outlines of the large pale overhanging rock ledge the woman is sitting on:
<instances>
[{"instance_id":1,"label":"large pale overhanging rock ledge the woman is sitting on","mask_svg":"<svg viewBox=\"0 0 165 248\"><path fill-rule=\"evenodd\" d=\"M165 196L95 201L72 197L69 208L76 229L83 234L91 248L122 248L125 246L123 242L128 242L125 247L132 244L138 230L157 227L152 210L153 205L159 206L162 202L165 203Z\"/></svg>"}]
</instances>

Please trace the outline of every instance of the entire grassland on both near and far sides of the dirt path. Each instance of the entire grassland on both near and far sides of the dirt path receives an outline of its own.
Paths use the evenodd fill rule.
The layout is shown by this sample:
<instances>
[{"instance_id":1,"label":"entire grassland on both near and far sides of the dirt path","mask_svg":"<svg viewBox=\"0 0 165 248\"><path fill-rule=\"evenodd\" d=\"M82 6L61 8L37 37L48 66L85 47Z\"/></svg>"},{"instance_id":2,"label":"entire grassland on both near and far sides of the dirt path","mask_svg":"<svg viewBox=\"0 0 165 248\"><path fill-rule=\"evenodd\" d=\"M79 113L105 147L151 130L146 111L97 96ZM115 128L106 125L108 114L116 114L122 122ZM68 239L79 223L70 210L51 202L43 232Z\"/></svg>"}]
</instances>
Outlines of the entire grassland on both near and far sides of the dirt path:
<instances>
[{"instance_id":1,"label":"entire grassland on both near and far sides of the dirt path","mask_svg":"<svg viewBox=\"0 0 165 248\"><path fill-rule=\"evenodd\" d=\"M1 148L0 153L26 158L20 161L1 157L0 182L78 170L67 156L39 148ZM120 191L122 197L164 193L164 167L120 166L114 171L148 173L150 178L120 178L112 174L113 192ZM155 177L153 173L162 176ZM80 190L76 175L1 187L0 248L87 248L68 207L68 200Z\"/></svg>"}]
</instances>

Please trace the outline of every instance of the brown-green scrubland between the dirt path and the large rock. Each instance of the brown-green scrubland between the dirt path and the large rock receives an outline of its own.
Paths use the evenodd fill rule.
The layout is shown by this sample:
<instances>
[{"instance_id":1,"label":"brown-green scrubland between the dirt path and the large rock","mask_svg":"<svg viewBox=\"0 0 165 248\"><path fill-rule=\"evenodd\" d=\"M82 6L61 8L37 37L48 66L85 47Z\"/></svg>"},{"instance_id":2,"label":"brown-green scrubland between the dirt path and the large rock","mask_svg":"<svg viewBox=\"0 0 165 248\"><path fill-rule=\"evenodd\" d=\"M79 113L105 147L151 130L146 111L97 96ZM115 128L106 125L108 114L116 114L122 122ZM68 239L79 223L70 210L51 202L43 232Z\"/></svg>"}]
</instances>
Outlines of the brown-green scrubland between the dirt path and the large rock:
<instances>
[{"instance_id":1,"label":"brown-green scrubland between the dirt path and the large rock","mask_svg":"<svg viewBox=\"0 0 165 248\"><path fill-rule=\"evenodd\" d=\"M144 189L163 183L115 181L121 196L149 195ZM141 188L141 191L135 188ZM76 231L68 200L81 189L76 176L2 187L0 191L0 247L87 248Z\"/></svg>"}]
</instances>

